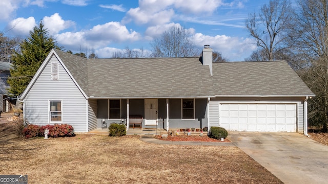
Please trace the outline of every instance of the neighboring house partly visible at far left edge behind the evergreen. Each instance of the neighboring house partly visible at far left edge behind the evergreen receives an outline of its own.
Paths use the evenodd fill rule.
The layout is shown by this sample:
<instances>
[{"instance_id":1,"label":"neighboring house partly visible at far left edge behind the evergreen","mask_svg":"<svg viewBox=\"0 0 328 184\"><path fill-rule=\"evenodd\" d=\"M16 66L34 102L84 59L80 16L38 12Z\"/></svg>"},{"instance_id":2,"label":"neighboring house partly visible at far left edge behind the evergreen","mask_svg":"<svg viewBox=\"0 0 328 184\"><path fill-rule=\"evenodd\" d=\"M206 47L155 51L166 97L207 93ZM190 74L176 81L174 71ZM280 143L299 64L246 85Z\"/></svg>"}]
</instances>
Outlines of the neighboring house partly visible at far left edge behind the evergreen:
<instances>
[{"instance_id":1,"label":"neighboring house partly visible at far left edge behind the evergreen","mask_svg":"<svg viewBox=\"0 0 328 184\"><path fill-rule=\"evenodd\" d=\"M9 84L7 79L10 76L10 68L12 68L11 63L0 61L0 111L6 112L10 110L7 88Z\"/></svg>"}]
</instances>

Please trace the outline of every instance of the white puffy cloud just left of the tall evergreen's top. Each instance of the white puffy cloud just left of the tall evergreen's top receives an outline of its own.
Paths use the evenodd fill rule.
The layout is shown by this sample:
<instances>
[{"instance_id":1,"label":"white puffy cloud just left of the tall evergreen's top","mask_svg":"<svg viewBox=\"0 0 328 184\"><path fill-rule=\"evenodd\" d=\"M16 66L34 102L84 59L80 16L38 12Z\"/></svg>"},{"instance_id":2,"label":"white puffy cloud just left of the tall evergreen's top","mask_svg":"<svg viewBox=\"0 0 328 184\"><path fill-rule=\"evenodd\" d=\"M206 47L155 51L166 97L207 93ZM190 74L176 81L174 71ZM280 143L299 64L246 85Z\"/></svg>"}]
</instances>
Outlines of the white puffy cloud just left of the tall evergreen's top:
<instances>
[{"instance_id":1,"label":"white puffy cloud just left of the tall evergreen's top","mask_svg":"<svg viewBox=\"0 0 328 184\"><path fill-rule=\"evenodd\" d=\"M34 17L19 17L10 21L6 30L10 30L10 34L13 35L27 36L34 26L36 26Z\"/></svg>"}]
</instances>

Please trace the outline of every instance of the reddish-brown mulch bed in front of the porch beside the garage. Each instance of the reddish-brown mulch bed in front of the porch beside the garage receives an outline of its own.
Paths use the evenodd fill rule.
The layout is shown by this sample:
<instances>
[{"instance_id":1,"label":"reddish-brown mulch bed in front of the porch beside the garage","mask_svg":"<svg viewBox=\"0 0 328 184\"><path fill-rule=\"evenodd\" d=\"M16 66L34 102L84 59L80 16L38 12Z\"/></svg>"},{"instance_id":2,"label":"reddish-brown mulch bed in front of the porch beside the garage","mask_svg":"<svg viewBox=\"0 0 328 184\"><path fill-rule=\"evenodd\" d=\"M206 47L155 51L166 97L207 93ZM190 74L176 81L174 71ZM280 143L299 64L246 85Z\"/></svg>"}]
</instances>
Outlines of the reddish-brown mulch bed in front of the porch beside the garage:
<instances>
[{"instance_id":1,"label":"reddish-brown mulch bed in front of the porch beside the garage","mask_svg":"<svg viewBox=\"0 0 328 184\"><path fill-rule=\"evenodd\" d=\"M213 139L207 135L199 136L199 135L168 135L167 138L162 138L161 135L156 135L155 137L158 140L162 141L193 141L193 142L220 142L220 143L230 143L229 139L226 138L224 141L220 141L217 139Z\"/></svg>"}]
</instances>

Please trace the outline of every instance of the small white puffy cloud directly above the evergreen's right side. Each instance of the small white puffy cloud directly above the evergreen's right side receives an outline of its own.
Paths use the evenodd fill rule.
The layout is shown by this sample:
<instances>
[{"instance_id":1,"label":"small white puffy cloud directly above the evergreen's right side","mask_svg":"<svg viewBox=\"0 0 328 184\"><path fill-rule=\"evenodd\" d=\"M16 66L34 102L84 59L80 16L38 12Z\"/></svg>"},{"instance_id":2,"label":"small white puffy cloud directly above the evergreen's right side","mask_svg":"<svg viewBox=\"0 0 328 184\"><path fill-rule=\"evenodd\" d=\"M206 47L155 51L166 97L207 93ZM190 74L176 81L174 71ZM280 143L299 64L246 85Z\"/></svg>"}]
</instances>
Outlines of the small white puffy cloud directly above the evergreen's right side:
<instances>
[{"instance_id":1,"label":"small white puffy cloud directly above the evergreen's right side","mask_svg":"<svg viewBox=\"0 0 328 184\"><path fill-rule=\"evenodd\" d=\"M71 20L63 20L58 13L51 15L50 17L45 16L43 18L45 27L49 30L50 35L57 34L61 30L65 30L75 25Z\"/></svg>"}]
</instances>

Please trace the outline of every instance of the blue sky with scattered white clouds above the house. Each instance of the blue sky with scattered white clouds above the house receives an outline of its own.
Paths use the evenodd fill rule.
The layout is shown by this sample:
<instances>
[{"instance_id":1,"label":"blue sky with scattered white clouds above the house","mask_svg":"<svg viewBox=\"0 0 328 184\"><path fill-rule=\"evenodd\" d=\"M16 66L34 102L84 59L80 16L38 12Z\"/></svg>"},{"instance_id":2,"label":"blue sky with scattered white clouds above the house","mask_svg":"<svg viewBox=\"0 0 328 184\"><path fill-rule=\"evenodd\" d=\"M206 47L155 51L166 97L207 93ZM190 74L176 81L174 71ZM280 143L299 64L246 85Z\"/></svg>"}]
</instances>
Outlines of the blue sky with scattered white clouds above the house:
<instances>
[{"instance_id":1,"label":"blue sky with scattered white clouds above the house","mask_svg":"<svg viewBox=\"0 0 328 184\"><path fill-rule=\"evenodd\" d=\"M256 49L244 28L256 0L1 0L0 31L26 37L43 20L59 46L74 53L94 51L99 58L143 48L171 26L190 32L197 47L210 44L230 61L243 61Z\"/></svg>"}]
</instances>

